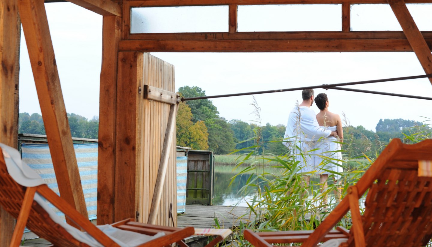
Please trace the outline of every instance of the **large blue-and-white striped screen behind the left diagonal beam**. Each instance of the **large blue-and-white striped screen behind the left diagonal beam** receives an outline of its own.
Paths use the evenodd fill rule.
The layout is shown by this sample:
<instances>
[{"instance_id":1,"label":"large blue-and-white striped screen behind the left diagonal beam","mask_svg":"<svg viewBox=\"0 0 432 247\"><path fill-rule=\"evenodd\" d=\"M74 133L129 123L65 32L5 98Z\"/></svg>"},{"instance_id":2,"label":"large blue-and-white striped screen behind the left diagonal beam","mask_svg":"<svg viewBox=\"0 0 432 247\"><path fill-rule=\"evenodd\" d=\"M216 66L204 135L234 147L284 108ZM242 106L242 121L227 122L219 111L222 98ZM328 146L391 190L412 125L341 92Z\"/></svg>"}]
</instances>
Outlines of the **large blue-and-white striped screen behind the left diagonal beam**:
<instances>
[{"instance_id":1,"label":"large blue-and-white striped screen behind the left diagonal beam","mask_svg":"<svg viewBox=\"0 0 432 247\"><path fill-rule=\"evenodd\" d=\"M98 185L98 144L73 144L89 219L96 218ZM35 170L57 194L58 185L48 144L23 143L22 160ZM54 207L50 204L51 207ZM57 209L54 209L57 210ZM56 211L60 217L63 213Z\"/></svg>"}]
</instances>

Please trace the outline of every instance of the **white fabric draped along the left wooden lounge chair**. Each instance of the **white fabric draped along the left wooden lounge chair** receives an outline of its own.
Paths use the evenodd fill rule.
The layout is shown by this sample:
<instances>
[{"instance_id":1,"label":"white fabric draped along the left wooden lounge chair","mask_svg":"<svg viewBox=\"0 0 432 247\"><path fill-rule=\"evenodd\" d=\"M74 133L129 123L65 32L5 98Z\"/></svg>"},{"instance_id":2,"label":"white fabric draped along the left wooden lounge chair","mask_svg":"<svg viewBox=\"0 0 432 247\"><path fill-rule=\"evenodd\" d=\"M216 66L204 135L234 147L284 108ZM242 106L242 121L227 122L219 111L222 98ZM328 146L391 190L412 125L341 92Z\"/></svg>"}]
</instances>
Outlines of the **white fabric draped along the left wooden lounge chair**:
<instances>
[{"instance_id":1,"label":"white fabric draped along the left wooden lounge chair","mask_svg":"<svg viewBox=\"0 0 432 247\"><path fill-rule=\"evenodd\" d=\"M30 168L27 164L25 164L24 161L22 161L21 155L18 150L10 146L6 146L3 143L0 143L0 147L3 151L3 157L6 162L7 171L18 184L21 184L25 187L35 187L41 184L45 184L42 177L39 176L39 174L37 174L35 171L33 171L32 168ZM38 193L35 194L34 200L43 209L45 209L45 211L48 212L48 215L50 215L50 218L54 222L62 226L76 240L88 244L91 247L104 247L102 244L96 241L94 237L64 222L53 210L51 210L51 208L45 202L45 199ZM165 235L164 232L159 232L154 236L149 236L133 231L121 230L112 227L111 225L98 225L97 227L121 247L135 247L137 245L144 244L152 239Z\"/></svg>"}]
</instances>

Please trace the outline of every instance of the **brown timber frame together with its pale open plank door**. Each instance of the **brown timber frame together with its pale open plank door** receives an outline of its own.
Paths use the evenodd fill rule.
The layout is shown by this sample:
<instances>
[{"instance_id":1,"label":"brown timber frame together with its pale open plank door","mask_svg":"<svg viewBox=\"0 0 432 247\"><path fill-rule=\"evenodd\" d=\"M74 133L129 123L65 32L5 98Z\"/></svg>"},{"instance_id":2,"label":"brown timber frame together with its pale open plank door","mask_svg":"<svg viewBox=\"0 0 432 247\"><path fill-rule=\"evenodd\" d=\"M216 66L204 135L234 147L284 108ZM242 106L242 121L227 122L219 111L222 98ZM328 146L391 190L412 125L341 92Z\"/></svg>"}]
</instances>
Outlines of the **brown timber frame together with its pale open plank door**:
<instances>
[{"instance_id":1,"label":"brown timber frame together with its pale open plank door","mask_svg":"<svg viewBox=\"0 0 432 247\"><path fill-rule=\"evenodd\" d=\"M50 0L48 0L50 1ZM356 52L414 51L426 73L431 73L432 32L420 32L405 3L432 0L70 0L103 15L103 60L100 89L98 224L137 217L146 221L159 158L162 153L169 105L143 99L143 85L174 92L174 70L162 60L143 52ZM340 32L238 32L238 5L256 4L341 4ZM353 32L350 6L362 3L390 3L403 32ZM130 8L151 6L228 5L228 32L130 34ZM16 135L17 112L12 94L17 93L11 76L16 35L18 0L3 0L0 7L0 141L11 143ZM76 176L70 130L67 123L54 51L41 1L19 0L48 140L55 155L57 176L65 177L62 197L86 214L79 177ZM11 31L12 30L12 31ZM10 38L13 37L13 38ZM142 61L142 63L138 63ZM136 66L127 68L127 66ZM142 67L140 67L142 66ZM171 68L171 69L170 69ZM130 73L128 73L130 72ZM130 81L132 79L132 81ZM148 83L146 83L148 82ZM169 85L169 86L168 86ZM6 104L5 102L9 102ZM13 107L12 107L13 106ZM131 115L129 115L131 114ZM6 124L6 125L5 125ZM5 128L6 126L6 128ZM175 143L175 142L174 142ZM172 147L175 154L175 146ZM175 159L171 159L175 164ZM175 165L174 165L175 167ZM175 177L168 168L157 222L169 225L167 207L175 202ZM56 171L56 173L57 173ZM174 206L176 203L173 203ZM117 210L115 210L117 209ZM173 209L175 211L175 208ZM137 216L137 212L139 215ZM3 215L2 215L3 216ZM6 216L7 217L7 216ZM0 237L7 235L3 216ZM2 240L6 239L1 237Z\"/></svg>"}]
</instances>

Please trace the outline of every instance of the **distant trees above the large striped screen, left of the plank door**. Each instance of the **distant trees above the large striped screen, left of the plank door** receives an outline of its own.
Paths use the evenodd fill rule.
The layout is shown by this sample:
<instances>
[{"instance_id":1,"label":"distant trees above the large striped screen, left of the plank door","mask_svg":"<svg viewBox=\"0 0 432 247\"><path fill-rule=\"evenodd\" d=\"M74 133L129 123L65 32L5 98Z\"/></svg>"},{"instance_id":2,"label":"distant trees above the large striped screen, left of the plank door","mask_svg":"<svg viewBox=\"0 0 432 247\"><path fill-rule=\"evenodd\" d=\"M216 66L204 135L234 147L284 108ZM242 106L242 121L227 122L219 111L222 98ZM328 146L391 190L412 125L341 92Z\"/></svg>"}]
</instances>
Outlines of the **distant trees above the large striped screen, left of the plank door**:
<instances>
[{"instance_id":1,"label":"distant trees above the large striped screen, left of the plank door","mask_svg":"<svg viewBox=\"0 0 432 247\"><path fill-rule=\"evenodd\" d=\"M99 117L91 120L77 114L67 114L72 137L98 139ZM26 134L46 135L44 121L38 113L27 112L19 114L18 132Z\"/></svg>"}]
</instances>

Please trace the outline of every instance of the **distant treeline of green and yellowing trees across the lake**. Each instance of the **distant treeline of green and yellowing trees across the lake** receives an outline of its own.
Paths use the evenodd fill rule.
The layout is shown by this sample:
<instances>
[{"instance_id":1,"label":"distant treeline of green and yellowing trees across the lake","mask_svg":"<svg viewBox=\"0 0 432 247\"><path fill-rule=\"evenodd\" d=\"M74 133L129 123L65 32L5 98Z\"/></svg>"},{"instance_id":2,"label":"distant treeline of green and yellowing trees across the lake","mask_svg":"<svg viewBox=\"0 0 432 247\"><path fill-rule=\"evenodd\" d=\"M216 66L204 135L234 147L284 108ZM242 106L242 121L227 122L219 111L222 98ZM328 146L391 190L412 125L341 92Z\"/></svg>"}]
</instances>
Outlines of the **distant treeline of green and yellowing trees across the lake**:
<instances>
[{"instance_id":1,"label":"distant treeline of green and yellowing trees across the lake","mask_svg":"<svg viewBox=\"0 0 432 247\"><path fill-rule=\"evenodd\" d=\"M179 94L185 98L206 96L205 91L194 86L184 86ZM256 106L257 107L257 106ZM77 114L67 114L70 130L73 137L98 138L98 117L88 120ZM351 157L379 153L381 147L388 144L393 138L402 138L403 133L413 131L427 131L431 129L422 126L422 123L413 120L380 119L375 128L376 132L366 130L363 126L343 128L344 142L342 149ZM19 114L19 133L45 134L44 123L40 114ZM196 150L211 150L215 154L227 154L233 149L243 149L254 146L260 136L260 149L262 153L283 154L287 151L282 144L285 134L285 125L276 126L259 122L246 123L233 119L227 121L219 116L216 106L208 99L181 102L177 114L177 145L191 147ZM250 140L249 140L250 139ZM248 140L248 141L246 141Z\"/></svg>"}]
</instances>

